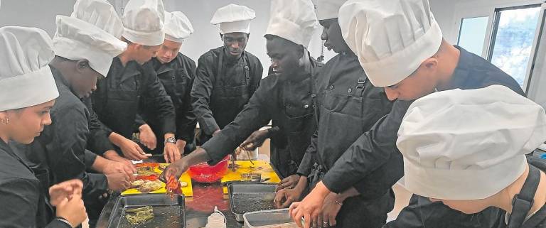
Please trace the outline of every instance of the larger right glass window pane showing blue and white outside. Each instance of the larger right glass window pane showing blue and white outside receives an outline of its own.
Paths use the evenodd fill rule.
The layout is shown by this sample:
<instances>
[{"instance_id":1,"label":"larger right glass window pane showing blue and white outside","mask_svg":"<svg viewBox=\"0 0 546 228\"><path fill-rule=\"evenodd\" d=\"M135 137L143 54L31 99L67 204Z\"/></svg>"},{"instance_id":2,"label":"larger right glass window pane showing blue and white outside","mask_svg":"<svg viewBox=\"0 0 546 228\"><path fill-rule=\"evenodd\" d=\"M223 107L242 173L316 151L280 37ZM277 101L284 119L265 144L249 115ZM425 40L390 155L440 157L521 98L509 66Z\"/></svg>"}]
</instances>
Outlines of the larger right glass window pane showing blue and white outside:
<instances>
[{"instance_id":1,"label":"larger right glass window pane showing blue and white outside","mask_svg":"<svg viewBox=\"0 0 546 228\"><path fill-rule=\"evenodd\" d=\"M498 28L491 63L507 72L523 87L535 40L540 6L498 12Z\"/></svg>"}]
</instances>

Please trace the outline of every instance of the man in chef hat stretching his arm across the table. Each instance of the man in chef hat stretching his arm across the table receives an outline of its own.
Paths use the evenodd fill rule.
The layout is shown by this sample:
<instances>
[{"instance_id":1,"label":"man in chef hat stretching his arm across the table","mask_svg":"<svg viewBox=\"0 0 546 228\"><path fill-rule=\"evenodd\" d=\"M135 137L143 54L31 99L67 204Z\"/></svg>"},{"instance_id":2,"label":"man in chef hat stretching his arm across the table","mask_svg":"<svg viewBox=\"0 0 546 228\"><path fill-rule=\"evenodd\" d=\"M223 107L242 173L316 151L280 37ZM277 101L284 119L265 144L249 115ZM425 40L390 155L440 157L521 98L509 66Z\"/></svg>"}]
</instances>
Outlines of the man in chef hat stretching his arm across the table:
<instances>
[{"instance_id":1,"label":"man in chef hat stretching his arm across the table","mask_svg":"<svg viewBox=\"0 0 546 228\"><path fill-rule=\"evenodd\" d=\"M282 11L272 14L275 16L272 17L265 35L267 54L272 59L271 68L274 74L262 80L258 90L234 121L202 147L171 164L162 178L168 175L178 177L196 163L218 163L245 141L247 136L267 125L269 121L272 121L274 128L264 131L265 136L260 141L271 138L272 165L277 168L282 178L296 174L316 129L316 94L312 76L320 70L321 65L315 63L306 50L317 24L313 5L305 0L291 2L309 9L309 13L296 14L288 11L287 5L273 2L272 12ZM282 30L286 23L294 25L288 33Z\"/></svg>"}]
</instances>

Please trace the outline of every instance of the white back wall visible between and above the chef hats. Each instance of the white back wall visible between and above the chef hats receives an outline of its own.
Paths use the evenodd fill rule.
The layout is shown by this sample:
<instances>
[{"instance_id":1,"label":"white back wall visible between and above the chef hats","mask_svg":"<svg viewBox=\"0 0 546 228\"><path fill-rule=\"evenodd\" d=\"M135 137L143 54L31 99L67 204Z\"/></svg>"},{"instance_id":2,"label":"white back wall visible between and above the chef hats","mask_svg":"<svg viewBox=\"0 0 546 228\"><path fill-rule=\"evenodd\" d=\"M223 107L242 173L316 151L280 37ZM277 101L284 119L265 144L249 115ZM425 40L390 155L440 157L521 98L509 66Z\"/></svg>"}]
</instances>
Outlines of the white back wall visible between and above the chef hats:
<instances>
[{"instance_id":1,"label":"white back wall visible between and above the chef hats","mask_svg":"<svg viewBox=\"0 0 546 228\"><path fill-rule=\"evenodd\" d=\"M55 15L70 15L75 0L1 0L0 26L29 26L47 31L50 36L55 33ZM119 15L128 0L108 0ZM264 33L269 22L269 0L164 0L167 11L182 11L188 16L195 33L182 45L181 53L188 55L197 62L200 55L206 51L223 45L220 40L218 26L210 24L210 18L216 9L227 4L240 4L256 11L256 18L250 28L250 40L247 51L256 55L264 66L264 76L270 65L266 53ZM321 27L317 28L309 51L315 58L322 50L320 39ZM326 51L326 60L334 54Z\"/></svg>"}]
</instances>

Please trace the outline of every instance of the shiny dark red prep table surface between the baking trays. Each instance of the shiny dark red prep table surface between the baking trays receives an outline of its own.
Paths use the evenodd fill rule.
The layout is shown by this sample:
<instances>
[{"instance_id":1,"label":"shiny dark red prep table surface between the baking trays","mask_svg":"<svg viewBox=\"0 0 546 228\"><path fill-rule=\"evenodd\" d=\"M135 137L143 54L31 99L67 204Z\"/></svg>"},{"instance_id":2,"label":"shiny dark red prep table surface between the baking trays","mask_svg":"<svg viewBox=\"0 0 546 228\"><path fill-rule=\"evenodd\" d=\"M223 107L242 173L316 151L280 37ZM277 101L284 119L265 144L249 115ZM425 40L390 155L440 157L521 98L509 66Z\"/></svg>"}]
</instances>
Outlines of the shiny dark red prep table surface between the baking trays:
<instances>
[{"instance_id":1,"label":"shiny dark red prep table surface between the baking trays","mask_svg":"<svg viewBox=\"0 0 546 228\"><path fill-rule=\"evenodd\" d=\"M152 156L144 162L161 163L164 161L162 156ZM242 227L242 222L237 222L235 215L230 211L229 195L224 194L220 182L211 184L193 182L192 185L193 197L186 197L186 228L205 227L207 217L214 211L215 206L225 215L228 221L227 228ZM109 217L119 197L119 194L110 197L100 214L97 228L108 226Z\"/></svg>"}]
</instances>

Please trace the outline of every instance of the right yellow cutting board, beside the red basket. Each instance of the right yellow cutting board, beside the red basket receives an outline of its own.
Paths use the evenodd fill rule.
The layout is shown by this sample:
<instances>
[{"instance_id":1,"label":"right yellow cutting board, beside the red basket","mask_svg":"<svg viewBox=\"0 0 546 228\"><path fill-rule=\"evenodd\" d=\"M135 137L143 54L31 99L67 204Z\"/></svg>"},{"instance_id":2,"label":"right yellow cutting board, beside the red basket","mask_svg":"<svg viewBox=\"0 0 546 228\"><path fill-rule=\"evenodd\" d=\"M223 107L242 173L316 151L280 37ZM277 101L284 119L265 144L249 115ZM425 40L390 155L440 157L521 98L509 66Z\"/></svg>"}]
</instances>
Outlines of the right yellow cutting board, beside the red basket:
<instances>
[{"instance_id":1,"label":"right yellow cutting board, beside the red basket","mask_svg":"<svg viewBox=\"0 0 546 228\"><path fill-rule=\"evenodd\" d=\"M267 161L235 161L237 169L233 172L231 169L228 169L228 173L222 178L222 183L226 183L234 180L242 180L243 173L262 173L262 180L269 178L264 183L280 183L281 178L275 173L271 165ZM228 188L224 187L224 194L228 194Z\"/></svg>"}]
</instances>

